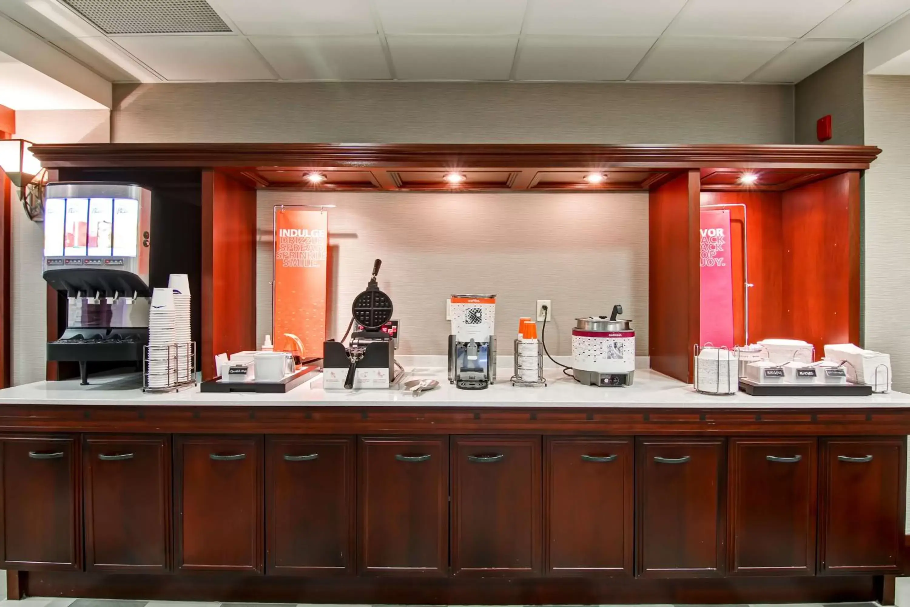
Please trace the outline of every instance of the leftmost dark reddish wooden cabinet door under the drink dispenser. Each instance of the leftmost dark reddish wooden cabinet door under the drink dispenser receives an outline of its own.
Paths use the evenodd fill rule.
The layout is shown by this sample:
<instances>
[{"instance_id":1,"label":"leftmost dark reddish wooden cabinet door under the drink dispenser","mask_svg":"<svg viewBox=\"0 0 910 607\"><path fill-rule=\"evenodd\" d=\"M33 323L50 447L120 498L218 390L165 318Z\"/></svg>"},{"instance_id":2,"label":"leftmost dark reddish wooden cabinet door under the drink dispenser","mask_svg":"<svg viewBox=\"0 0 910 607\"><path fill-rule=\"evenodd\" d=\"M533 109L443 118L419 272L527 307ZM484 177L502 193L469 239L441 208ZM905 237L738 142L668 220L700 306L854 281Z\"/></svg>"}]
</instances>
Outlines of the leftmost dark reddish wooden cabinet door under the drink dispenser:
<instances>
[{"instance_id":1,"label":"leftmost dark reddish wooden cabinet door under the drink dispenser","mask_svg":"<svg viewBox=\"0 0 910 607\"><path fill-rule=\"evenodd\" d=\"M75 437L4 437L6 569L81 570L82 511Z\"/></svg>"}]
</instances>

